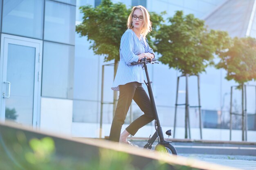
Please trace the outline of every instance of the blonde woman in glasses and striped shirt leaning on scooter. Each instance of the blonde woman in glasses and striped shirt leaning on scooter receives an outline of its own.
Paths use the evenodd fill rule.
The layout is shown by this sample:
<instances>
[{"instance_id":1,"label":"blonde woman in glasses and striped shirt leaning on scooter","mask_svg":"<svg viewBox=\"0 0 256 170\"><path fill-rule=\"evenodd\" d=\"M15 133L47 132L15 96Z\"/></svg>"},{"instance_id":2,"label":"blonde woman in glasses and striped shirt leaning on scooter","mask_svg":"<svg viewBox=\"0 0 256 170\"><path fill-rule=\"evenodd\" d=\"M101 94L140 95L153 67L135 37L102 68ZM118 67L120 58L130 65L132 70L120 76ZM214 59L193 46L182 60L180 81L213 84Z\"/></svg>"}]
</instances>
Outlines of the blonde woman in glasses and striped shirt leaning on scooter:
<instances>
[{"instance_id":1,"label":"blonde woman in glasses and striped shirt leaning on scooter","mask_svg":"<svg viewBox=\"0 0 256 170\"><path fill-rule=\"evenodd\" d=\"M109 139L135 146L127 141L127 137L135 135L139 128L154 119L150 99L142 87L144 82L142 64L131 65L132 62L139 62L144 57L150 60L155 57L153 50L146 42L146 35L152 30L147 9L141 5L133 7L128 17L127 27L128 29L121 38L120 62L112 86L112 90L120 92ZM133 121L121 133L132 99L144 115Z\"/></svg>"}]
</instances>

